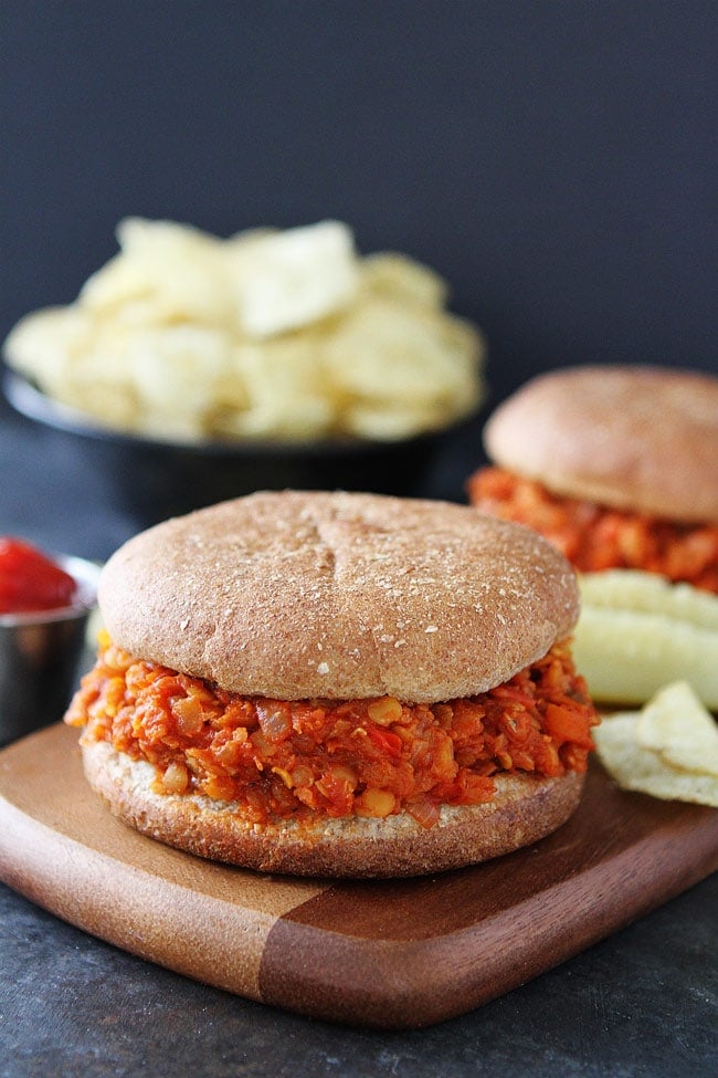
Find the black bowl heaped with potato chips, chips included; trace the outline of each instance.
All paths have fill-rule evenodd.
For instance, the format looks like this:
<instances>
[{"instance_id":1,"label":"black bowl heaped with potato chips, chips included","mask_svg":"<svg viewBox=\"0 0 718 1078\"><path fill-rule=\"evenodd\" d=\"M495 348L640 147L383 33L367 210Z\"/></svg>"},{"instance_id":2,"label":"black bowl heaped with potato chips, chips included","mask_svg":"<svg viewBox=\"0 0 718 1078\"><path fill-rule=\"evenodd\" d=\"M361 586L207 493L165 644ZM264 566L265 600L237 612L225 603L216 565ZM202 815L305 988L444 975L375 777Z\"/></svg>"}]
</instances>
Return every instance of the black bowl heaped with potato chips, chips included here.
<instances>
[{"instance_id":1,"label":"black bowl heaped with potato chips, chips included","mask_svg":"<svg viewBox=\"0 0 718 1078\"><path fill-rule=\"evenodd\" d=\"M80 439L141 523L257 489L413 493L483 401L481 332L339 221L220 239L118 226L76 301L8 336L10 404Z\"/></svg>"}]
</instances>

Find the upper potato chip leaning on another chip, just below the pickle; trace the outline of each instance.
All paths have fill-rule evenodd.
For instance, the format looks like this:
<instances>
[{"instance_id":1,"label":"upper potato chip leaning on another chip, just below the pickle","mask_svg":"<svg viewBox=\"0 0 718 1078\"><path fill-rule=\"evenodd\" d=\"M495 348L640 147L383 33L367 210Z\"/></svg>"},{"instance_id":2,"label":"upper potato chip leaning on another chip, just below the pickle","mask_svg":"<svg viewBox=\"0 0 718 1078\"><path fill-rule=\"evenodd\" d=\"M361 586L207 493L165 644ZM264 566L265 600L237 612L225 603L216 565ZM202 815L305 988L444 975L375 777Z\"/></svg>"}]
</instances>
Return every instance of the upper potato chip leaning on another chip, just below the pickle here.
<instances>
[{"instance_id":1,"label":"upper potato chip leaning on another chip, just below the pickle","mask_svg":"<svg viewBox=\"0 0 718 1078\"><path fill-rule=\"evenodd\" d=\"M636 739L673 767L718 777L718 725L686 681L665 685L646 704Z\"/></svg>"}]
</instances>

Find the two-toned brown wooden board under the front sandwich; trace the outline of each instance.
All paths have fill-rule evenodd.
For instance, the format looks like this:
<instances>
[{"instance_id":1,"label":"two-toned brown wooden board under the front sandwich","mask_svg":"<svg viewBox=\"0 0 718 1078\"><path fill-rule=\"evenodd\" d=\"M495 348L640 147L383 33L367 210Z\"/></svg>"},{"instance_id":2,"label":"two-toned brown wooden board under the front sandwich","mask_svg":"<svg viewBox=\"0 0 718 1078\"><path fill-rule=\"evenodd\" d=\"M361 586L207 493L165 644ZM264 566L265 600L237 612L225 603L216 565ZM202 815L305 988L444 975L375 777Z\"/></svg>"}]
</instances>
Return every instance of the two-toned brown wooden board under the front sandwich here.
<instances>
[{"instance_id":1,"label":"two-toned brown wooden board under the front sandwich","mask_svg":"<svg viewBox=\"0 0 718 1078\"><path fill-rule=\"evenodd\" d=\"M600 765L555 835L462 871L298 880L170 849L82 775L77 732L0 753L0 878L198 981L313 1017L405 1028L536 977L718 868L718 812L620 792Z\"/></svg>"}]
</instances>

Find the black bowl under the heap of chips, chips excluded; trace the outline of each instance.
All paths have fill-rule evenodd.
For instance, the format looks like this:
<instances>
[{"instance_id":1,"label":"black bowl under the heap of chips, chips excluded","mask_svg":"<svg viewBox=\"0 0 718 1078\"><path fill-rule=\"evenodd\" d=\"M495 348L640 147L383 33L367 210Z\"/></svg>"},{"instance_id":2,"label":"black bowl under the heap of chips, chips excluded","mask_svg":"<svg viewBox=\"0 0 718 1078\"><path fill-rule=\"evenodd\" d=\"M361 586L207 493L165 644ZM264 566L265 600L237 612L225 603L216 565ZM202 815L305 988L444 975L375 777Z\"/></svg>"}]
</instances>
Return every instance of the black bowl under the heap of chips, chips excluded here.
<instances>
[{"instance_id":1,"label":"black bowl under the heap of chips, chips excluded","mask_svg":"<svg viewBox=\"0 0 718 1078\"><path fill-rule=\"evenodd\" d=\"M75 457L104 472L118 507L141 527L255 490L416 496L446 435L401 441L161 441L95 426L10 369L3 371L3 389L17 411L54 438L70 439Z\"/></svg>"}]
</instances>

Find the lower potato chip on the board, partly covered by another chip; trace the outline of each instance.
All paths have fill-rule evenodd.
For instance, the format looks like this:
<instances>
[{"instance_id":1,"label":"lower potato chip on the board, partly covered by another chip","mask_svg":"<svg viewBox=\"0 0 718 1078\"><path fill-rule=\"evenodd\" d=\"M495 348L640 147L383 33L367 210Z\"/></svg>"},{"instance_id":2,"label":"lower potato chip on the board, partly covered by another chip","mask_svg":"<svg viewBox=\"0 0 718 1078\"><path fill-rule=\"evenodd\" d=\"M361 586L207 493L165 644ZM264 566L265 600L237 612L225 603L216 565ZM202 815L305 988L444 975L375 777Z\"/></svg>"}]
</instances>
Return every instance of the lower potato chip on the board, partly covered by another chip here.
<instances>
[{"instance_id":1,"label":"lower potato chip on the board, partly covered by another chip","mask_svg":"<svg viewBox=\"0 0 718 1078\"><path fill-rule=\"evenodd\" d=\"M718 778L672 767L637 741L640 713L603 719L593 731L601 763L619 786L664 800L685 800L718 808Z\"/></svg>"}]
</instances>

